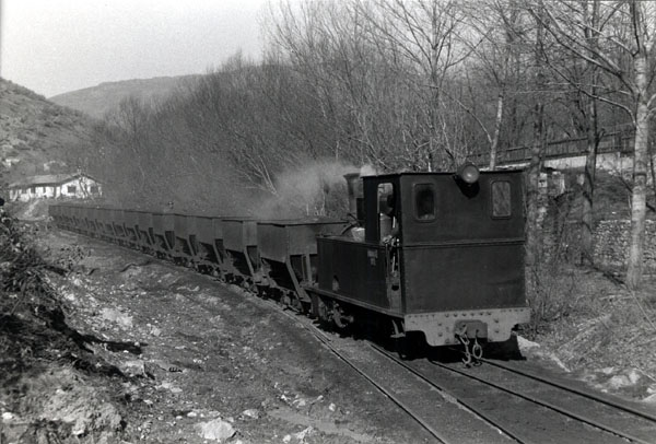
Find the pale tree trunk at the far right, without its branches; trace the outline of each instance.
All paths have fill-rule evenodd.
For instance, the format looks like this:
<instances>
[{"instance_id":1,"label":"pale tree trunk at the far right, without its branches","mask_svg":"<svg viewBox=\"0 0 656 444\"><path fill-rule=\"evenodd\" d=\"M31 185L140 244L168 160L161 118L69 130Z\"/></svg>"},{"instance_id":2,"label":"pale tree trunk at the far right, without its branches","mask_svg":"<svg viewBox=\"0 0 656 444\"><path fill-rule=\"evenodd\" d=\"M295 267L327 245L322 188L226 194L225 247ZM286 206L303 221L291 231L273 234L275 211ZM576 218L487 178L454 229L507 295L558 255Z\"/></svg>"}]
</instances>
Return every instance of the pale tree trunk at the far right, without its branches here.
<instances>
[{"instance_id":1,"label":"pale tree trunk at the far right, without its branches","mask_svg":"<svg viewBox=\"0 0 656 444\"><path fill-rule=\"evenodd\" d=\"M637 109L635 114L635 145L633 150L633 191L631 195L631 237L626 267L626 285L637 289L642 280L645 218L647 213L647 143L649 137L649 109L647 107L647 55L635 56L635 84Z\"/></svg>"}]
</instances>

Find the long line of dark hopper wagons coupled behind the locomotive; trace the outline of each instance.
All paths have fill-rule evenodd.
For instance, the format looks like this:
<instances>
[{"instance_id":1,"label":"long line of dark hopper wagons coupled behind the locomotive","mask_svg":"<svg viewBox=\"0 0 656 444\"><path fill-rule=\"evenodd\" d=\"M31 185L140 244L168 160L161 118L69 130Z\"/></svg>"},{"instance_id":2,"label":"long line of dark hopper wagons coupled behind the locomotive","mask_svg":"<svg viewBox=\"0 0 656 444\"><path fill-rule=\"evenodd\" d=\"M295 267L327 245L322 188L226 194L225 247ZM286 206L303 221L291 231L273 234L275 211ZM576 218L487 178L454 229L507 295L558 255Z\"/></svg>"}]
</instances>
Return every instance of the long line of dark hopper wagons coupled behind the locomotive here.
<instances>
[{"instance_id":1,"label":"long line of dark hopper wagons coupled behind the locomotive","mask_svg":"<svg viewBox=\"0 0 656 444\"><path fill-rule=\"evenodd\" d=\"M304 287L317 278L316 236L347 226L329 218L259 221L72 203L50 206L49 213L60 229L255 285L304 311L311 302Z\"/></svg>"}]
</instances>

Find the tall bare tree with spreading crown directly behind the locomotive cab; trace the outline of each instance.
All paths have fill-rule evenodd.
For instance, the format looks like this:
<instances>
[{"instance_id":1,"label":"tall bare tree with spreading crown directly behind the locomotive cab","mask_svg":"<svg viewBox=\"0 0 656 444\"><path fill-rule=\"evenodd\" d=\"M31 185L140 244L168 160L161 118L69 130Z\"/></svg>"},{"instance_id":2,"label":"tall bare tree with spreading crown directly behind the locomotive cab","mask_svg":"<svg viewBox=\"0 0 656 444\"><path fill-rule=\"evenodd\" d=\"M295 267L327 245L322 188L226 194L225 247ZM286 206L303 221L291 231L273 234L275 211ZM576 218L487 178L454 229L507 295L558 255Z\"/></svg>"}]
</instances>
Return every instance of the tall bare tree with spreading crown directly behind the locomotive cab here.
<instances>
[{"instance_id":1,"label":"tall bare tree with spreading crown directly behind the locomotive cab","mask_svg":"<svg viewBox=\"0 0 656 444\"><path fill-rule=\"evenodd\" d=\"M364 4L358 2L366 19L366 35L403 72L424 109L425 136L413 143L418 161L432 170L444 157L442 166L453 167L462 160L464 147L454 143L447 128L453 124L453 105L462 101L450 93L454 84L448 73L472 52L472 45L464 42L466 9L455 0L375 0L368 9Z\"/></svg>"}]
</instances>

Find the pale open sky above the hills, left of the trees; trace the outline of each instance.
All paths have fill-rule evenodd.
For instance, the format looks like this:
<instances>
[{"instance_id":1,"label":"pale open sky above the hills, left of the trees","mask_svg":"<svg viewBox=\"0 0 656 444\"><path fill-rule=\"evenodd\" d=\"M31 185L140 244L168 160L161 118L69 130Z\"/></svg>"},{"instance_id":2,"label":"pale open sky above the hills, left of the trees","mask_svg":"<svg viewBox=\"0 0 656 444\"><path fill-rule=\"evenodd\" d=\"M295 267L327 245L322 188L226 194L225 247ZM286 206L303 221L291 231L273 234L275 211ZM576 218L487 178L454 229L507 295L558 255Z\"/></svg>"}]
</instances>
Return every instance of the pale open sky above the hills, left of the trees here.
<instances>
[{"instance_id":1,"label":"pale open sky above the hills, left of the trees","mask_svg":"<svg viewBox=\"0 0 656 444\"><path fill-rule=\"evenodd\" d=\"M257 59L267 0L0 0L0 77L46 97Z\"/></svg>"}]
</instances>

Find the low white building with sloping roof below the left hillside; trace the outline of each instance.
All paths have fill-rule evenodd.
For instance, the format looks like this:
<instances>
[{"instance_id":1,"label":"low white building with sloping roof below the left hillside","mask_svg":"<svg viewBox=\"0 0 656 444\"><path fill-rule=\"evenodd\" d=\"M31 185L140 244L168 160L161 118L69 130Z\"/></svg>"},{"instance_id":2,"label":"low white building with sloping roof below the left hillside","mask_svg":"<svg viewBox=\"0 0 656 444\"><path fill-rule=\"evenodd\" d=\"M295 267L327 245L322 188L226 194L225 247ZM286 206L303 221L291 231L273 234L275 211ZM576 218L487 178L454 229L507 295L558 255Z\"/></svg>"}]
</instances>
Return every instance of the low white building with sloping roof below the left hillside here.
<instances>
[{"instance_id":1,"label":"low white building with sloping roof below the left hillside","mask_svg":"<svg viewBox=\"0 0 656 444\"><path fill-rule=\"evenodd\" d=\"M9 186L9 200L26 202L32 199L99 197L101 184L85 174L49 174L26 177Z\"/></svg>"}]
</instances>

